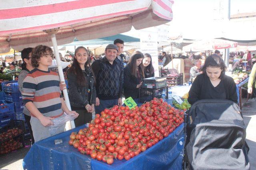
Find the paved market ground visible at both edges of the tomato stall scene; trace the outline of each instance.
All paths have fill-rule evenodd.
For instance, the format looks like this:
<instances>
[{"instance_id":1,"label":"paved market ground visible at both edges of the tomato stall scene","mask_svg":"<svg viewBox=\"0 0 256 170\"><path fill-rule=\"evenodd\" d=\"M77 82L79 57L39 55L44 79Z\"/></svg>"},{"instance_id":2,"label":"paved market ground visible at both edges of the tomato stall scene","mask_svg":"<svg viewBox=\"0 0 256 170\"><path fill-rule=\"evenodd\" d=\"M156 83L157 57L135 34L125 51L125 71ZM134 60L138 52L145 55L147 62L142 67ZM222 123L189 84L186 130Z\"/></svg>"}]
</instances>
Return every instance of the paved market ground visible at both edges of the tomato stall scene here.
<instances>
[{"instance_id":1,"label":"paved market ground visible at both edges of the tomato stall scene","mask_svg":"<svg viewBox=\"0 0 256 170\"><path fill-rule=\"evenodd\" d=\"M249 100L242 108L244 116L244 123L246 125L246 142L250 147L249 160L251 164L251 170L256 170L256 101ZM26 141L26 145L30 141ZM30 147L17 150L0 156L0 169L1 170L22 170L22 160L26 156L26 153Z\"/></svg>"}]
</instances>

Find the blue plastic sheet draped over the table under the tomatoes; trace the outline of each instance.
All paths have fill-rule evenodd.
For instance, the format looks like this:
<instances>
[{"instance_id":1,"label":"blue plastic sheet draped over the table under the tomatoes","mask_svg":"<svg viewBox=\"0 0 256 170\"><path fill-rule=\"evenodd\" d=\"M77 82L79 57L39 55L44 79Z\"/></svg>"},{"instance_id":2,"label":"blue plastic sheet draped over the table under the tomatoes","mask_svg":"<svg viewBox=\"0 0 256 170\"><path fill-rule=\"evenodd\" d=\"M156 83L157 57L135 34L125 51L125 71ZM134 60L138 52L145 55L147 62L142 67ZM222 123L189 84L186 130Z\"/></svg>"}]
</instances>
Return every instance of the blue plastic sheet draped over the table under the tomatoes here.
<instances>
[{"instance_id":1,"label":"blue plastic sheet draped over the table under the tomatoes","mask_svg":"<svg viewBox=\"0 0 256 170\"><path fill-rule=\"evenodd\" d=\"M73 131L85 126L76 127L35 143L23 160L23 168L28 170L141 170L141 169L182 169L184 124L177 127L168 137L156 143L130 160L114 160L108 165L94 160L88 155L80 154L77 149L68 145L69 136ZM63 143L55 145L55 139Z\"/></svg>"}]
</instances>

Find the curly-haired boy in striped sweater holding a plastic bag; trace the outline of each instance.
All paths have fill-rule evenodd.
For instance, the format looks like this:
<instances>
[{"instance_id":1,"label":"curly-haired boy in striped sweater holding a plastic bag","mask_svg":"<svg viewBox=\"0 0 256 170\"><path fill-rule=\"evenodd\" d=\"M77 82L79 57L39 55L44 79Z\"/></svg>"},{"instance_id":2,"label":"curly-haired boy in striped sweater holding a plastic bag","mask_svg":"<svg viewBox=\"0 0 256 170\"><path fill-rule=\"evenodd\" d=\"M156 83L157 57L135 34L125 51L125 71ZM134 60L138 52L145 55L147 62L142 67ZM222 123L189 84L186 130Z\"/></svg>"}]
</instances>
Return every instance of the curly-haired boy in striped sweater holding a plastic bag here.
<instances>
[{"instance_id":1,"label":"curly-haired boy in striped sweater holding a plastic bag","mask_svg":"<svg viewBox=\"0 0 256 170\"><path fill-rule=\"evenodd\" d=\"M60 97L58 74L48 69L52 65L52 56L50 47L38 45L32 49L31 64L34 69L23 81L22 98L30 111L35 142L52 136L47 127L53 125L52 119L64 116L63 111L78 117L78 113L70 111ZM64 127L62 125L53 135L63 132Z\"/></svg>"}]
</instances>

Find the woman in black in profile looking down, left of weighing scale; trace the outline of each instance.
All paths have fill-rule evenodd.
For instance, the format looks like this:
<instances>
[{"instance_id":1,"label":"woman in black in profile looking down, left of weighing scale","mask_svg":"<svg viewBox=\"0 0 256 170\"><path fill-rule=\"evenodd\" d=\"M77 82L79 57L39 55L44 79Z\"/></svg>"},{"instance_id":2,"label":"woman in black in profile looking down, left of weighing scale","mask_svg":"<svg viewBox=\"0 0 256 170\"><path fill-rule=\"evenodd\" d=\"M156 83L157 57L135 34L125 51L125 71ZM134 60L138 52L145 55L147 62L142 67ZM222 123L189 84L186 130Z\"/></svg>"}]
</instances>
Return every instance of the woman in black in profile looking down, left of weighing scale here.
<instances>
[{"instance_id":1,"label":"woman in black in profile looking down, left of weighing scale","mask_svg":"<svg viewBox=\"0 0 256 170\"><path fill-rule=\"evenodd\" d=\"M144 78L142 53L134 54L124 68L124 97L138 98L139 88Z\"/></svg>"}]
</instances>

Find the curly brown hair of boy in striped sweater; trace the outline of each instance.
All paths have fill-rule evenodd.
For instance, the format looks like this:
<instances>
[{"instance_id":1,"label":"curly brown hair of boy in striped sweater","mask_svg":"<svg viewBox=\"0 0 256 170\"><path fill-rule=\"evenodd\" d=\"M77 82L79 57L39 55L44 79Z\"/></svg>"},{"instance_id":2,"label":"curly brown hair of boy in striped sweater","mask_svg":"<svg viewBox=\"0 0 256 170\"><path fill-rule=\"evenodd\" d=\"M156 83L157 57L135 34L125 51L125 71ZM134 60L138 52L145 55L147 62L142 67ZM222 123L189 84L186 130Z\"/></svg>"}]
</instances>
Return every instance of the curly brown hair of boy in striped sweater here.
<instances>
[{"instance_id":1,"label":"curly brown hair of boy in striped sweater","mask_svg":"<svg viewBox=\"0 0 256 170\"><path fill-rule=\"evenodd\" d=\"M53 56L52 49L46 45L38 45L32 49L31 64L34 67L39 66L40 57L46 55L46 53Z\"/></svg>"}]
</instances>

